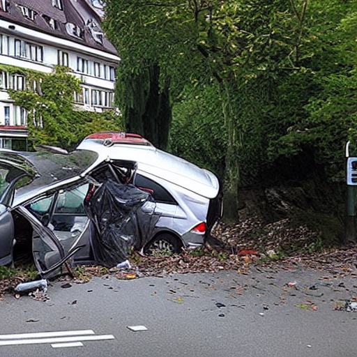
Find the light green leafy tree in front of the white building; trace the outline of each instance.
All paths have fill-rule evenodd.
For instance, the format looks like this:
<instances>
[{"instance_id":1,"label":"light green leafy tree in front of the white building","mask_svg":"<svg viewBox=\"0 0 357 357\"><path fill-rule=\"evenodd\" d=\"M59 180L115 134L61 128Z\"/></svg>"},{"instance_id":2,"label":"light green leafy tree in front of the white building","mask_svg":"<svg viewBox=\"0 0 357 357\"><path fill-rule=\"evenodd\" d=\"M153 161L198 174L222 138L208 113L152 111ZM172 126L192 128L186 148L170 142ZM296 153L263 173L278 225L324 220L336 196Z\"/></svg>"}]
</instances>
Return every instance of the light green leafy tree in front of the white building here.
<instances>
[{"instance_id":1,"label":"light green leafy tree in front of the white building","mask_svg":"<svg viewBox=\"0 0 357 357\"><path fill-rule=\"evenodd\" d=\"M15 105L28 112L27 128L34 146L48 144L71 150L92 132L123 128L120 116L114 111L96 113L74 108L73 93L82 89L79 79L70 75L68 68L56 66L50 74L31 71L24 75L29 82L26 91L9 91L9 94ZM30 88L33 83L35 90Z\"/></svg>"}]
</instances>

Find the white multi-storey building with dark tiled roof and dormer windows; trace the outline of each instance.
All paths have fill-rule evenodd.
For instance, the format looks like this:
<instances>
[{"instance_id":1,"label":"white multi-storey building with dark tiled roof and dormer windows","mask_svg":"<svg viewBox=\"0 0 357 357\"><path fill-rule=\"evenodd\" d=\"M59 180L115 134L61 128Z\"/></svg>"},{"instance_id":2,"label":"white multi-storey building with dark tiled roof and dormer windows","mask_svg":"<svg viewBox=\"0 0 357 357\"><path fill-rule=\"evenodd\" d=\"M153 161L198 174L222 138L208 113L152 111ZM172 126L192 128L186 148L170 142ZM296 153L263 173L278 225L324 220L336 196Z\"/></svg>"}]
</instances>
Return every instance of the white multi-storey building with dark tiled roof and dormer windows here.
<instances>
[{"instance_id":1,"label":"white multi-storey building with dark tiled roof and dormer windows","mask_svg":"<svg viewBox=\"0 0 357 357\"><path fill-rule=\"evenodd\" d=\"M6 65L51 73L68 66L81 80L79 109L113 107L119 56L100 28L102 0L0 0L0 147L26 149L26 111L7 89L22 90L24 75Z\"/></svg>"}]
</instances>

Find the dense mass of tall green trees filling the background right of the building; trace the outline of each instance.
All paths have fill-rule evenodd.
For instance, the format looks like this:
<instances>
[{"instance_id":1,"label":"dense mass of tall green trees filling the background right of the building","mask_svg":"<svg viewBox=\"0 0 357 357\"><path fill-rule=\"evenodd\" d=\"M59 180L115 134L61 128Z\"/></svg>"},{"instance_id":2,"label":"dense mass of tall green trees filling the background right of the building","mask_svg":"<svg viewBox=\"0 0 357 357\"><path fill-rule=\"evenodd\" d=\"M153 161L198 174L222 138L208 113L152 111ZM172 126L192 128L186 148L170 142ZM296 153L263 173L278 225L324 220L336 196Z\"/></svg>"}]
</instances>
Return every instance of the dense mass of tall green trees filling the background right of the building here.
<instances>
[{"instance_id":1,"label":"dense mass of tall green trees filling the background right of the building","mask_svg":"<svg viewBox=\"0 0 357 357\"><path fill-rule=\"evenodd\" d=\"M235 217L241 188L312 181L335 185L324 209L340 219L344 145L357 134L356 1L106 3L119 81L147 63L160 68L158 93L173 108L169 149L220 176ZM130 101L125 88L117 98L130 105L135 89Z\"/></svg>"}]
</instances>

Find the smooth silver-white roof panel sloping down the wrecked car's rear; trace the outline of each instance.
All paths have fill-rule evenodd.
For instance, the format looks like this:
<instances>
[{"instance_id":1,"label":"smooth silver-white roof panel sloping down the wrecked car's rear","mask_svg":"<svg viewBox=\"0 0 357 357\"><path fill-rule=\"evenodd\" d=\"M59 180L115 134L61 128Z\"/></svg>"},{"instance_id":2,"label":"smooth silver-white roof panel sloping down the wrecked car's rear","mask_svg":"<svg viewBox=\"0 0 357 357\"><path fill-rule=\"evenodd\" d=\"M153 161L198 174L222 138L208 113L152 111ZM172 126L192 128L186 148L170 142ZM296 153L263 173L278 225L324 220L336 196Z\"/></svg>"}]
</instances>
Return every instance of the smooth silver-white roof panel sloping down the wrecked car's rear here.
<instances>
[{"instance_id":1,"label":"smooth silver-white roof panel sloping down the wrecked car's rear","mask_svg":"<svg viewBox=\"0 0 357 357\"><path fill-rule=\"evenodd\" d=\"M133 138L136 139L136 138ZM207 198L218 195L219 183L214 174L175 155L147 144L116 142L105 145L105 139L86 138L77 150L96 151L98 161L90 171L105 160L130 160L137 162L137 172L147 173L179 185ZM86 173L84 173L86 174Z\"/></svg>"}]
</instances>

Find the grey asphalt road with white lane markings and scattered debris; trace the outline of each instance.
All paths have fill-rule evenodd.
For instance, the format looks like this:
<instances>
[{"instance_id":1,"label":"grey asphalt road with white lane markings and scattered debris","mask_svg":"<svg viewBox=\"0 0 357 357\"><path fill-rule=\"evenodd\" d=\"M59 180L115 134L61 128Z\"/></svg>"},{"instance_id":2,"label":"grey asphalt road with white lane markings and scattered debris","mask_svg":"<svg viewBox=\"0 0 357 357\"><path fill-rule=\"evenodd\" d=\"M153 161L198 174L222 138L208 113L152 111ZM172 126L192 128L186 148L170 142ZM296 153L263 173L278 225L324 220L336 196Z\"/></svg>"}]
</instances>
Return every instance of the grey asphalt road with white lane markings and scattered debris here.
<instances>
[{"instance_id":1,"label":"grey asphalt road with white lane markings and scattered debris","mask_svg":"<svg viewBox=\"0 0 357 357\"><path fill-rule=\"evenodd\" d=\"M357 312L334 310L357 296L354 273L265 269L63 284L51 282L48 301L0 301L1 357L357 355ZM65 336L22 335L45 332ZM66 347L67 337L75 345Z\"/></svg>"}]
</instances>

